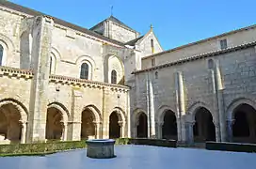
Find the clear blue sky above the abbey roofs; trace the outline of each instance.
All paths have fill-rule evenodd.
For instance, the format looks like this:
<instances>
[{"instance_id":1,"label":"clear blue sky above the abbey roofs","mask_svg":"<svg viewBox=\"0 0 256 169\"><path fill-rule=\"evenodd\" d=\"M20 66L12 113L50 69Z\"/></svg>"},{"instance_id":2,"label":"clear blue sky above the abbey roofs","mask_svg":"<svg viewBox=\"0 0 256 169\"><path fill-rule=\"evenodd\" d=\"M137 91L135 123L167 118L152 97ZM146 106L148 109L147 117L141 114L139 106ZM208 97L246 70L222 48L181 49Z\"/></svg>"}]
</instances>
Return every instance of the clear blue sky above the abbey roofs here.
<instances>
[{"instance_id":1,"label":"clear blue sky above the abbey roofs","mask_svg":"<svg viewBox=\"0 0 256 169\"><path fill-rule=\"evenodd\" d=\"M141 34L150 29L165 50L254 24L255 0L11 0L90 28L113 14Z\"/></svg>"}]
</instances>

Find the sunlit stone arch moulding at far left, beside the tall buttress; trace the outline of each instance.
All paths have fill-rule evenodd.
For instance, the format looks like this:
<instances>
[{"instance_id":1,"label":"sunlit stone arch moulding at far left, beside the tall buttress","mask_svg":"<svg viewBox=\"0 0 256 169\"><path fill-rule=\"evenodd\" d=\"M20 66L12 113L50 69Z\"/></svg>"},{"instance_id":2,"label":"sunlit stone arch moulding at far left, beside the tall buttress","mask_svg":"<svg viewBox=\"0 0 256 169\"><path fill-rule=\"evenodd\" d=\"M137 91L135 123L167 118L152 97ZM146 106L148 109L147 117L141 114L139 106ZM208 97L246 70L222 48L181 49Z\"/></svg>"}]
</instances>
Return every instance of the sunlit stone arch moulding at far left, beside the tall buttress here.
<instances>
[{"instance_id":1,"label":"sunlit stone arch moulding at far left, beside the tall buttress","mask_svg":"<svg viewBox=\"0 0 256 169\"><path fill-rule=\"evenodd\" d=\"M0 107L11 104L13 105L21 114L21 121L23 123L27 122L27 109L25 106L18 100L12 100L12 99L5 99L5 100L0 100Z\"/></svg>"}]
</instances>

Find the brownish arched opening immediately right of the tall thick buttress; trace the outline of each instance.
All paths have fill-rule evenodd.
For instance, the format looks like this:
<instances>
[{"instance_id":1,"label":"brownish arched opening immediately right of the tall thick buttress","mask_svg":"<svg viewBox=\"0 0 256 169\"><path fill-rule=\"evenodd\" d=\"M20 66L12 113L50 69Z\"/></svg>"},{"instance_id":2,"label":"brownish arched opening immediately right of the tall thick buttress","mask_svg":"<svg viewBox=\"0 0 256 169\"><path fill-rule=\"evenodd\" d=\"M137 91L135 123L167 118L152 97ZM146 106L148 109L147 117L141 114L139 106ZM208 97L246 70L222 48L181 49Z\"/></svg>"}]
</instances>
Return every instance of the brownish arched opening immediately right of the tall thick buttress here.
<instances>
[{"instance_id":1,"label":"brownish arched opening immediately right of the tall thick buttress","mask_svg":"<svg viewBox=\"0 0 256 169\"><path fill-rule=\"evenodd\" d=\"M46 118L46 139L62 140L63 129L64 124L61 112L53 107L48 108Z\"/></svg>"}]
</instances>

